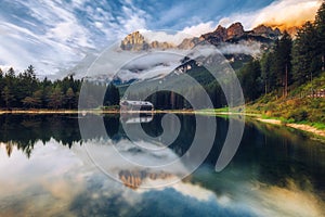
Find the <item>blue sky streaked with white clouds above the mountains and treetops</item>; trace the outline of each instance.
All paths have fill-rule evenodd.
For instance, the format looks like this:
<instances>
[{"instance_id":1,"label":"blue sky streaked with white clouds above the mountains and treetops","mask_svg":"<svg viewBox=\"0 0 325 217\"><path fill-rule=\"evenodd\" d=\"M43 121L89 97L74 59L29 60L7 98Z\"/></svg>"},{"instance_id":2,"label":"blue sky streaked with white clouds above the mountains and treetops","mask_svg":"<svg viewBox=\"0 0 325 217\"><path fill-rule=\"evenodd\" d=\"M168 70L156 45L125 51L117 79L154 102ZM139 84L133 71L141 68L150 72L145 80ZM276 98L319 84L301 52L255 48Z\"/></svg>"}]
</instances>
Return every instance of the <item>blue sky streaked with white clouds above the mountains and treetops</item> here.
<instances>
[{"instance_id":1,"label":"blue sky streaked with white clouds above the mountains and treetops","mask_svg":"<svg viewBox=\"0 0 325 217\"><path fill-rule=\"evenodd\" d=\"M172 29L192 35L221 23L246 28L280 13L277 8L316 9L321 0L2 0L0 67L34 64L55 75L136 29ZM295 11L299 15L299 11ZM302 13L302 12L301 12ZM266 14L266 15L265 15ZM270 15L271 14L271 15ZM266 17L265 17L266 16Z\"/></svg>"}]
</instances>

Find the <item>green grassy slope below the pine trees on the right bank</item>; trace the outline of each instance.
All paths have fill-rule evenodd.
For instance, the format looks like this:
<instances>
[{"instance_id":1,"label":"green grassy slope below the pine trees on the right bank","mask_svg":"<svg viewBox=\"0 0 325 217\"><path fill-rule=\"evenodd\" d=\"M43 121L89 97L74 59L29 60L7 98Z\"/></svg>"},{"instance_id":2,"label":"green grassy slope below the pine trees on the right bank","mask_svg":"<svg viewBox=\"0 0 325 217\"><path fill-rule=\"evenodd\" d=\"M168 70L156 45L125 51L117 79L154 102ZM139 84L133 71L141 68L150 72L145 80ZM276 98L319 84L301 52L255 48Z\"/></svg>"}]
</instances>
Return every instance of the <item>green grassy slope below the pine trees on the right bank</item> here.
<instances>
[{"instance_id":1,"label":"green grassy slope below the pine trees on the right bank","mask_svg":"<svg viewBox=\"0 0 325 217\"><path fill-rule=\"evenodd\" d=\"M314 89L325 89L325 73L313 80ZM256 102L247 104L246 110L261 114L265 119L280 119L284 124L307 124L325 129L325 98L310 98L311 84L291 87L287 98L271 92Z\"/></svg>"}]
</instances>

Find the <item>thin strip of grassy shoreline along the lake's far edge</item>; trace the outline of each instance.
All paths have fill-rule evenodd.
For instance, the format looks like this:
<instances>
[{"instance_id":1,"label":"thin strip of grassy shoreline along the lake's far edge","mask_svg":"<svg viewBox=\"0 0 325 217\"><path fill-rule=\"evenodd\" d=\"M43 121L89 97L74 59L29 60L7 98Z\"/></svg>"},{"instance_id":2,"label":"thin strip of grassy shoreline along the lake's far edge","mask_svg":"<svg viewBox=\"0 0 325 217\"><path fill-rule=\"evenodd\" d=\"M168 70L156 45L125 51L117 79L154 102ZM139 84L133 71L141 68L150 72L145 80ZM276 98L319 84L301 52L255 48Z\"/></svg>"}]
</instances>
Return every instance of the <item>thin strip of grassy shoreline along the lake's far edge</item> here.
<instances>
[{"instance_id":1,"label":"thin strip of grassy shoreline along the lake's far edge","mask_svg":"<svg viewBox=\"0 0 325 217\"><path fill-rule=\"evenodd\" d=\"M12 110L12 111L0 111L0 115L2 114L119 114L119 110ZM139 112L128 112L128 114L136 114ZM147 113L147 112L144 112ZM153 111L153 114L198 114L198 115L214 115L214 116L232 116L232 115L243 115L251 117L258 122L262 122L265 124L272 125L282 125L290 128L295 128L298 130L302 130L306 132L311 132L313 135L325 138L325 129L323 125L317 127L316 123L289 123L283 118L278 117L269 117L262 114L249 112L249 113L239 113L239 112L230 112L227 108L217 108L217 110L202 110L202 111L193 111L193 110L172 110L172 111Z\"/></svg>"}]
</instances>

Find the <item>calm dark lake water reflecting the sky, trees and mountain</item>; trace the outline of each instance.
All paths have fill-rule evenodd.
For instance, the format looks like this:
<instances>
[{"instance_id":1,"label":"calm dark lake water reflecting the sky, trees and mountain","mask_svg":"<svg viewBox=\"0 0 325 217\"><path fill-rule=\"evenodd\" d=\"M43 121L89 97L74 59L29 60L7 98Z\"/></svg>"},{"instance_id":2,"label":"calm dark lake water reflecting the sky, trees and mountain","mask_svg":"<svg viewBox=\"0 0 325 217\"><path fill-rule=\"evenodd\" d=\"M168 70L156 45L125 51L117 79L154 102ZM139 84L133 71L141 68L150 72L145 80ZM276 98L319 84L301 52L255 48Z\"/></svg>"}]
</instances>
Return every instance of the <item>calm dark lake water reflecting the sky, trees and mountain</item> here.
<instances>
[{"instance_id":1,"label":"calm dark lake water reflecting the sky, trees and mountain","mask_svg":"<svg viewBox=\"0 0 325 217\"><path fill-rule=\"evenodd\" d=\"M195 173L142 188L173 174L129 168L114 150L152 164L182 156L194 116L179 115L179 137L161 155L131 146L121 125L142 122L147 135L158 136L161 115L102 116L107 137L94 130L82 139L80 118L87 116L0 115L0 216L325 216L325 143L297 130L247 123L234 158L217 173L229 126L218 117L213 148ZM94 161L94 154L106 158Z\"/></svg>"}]
</instances>

